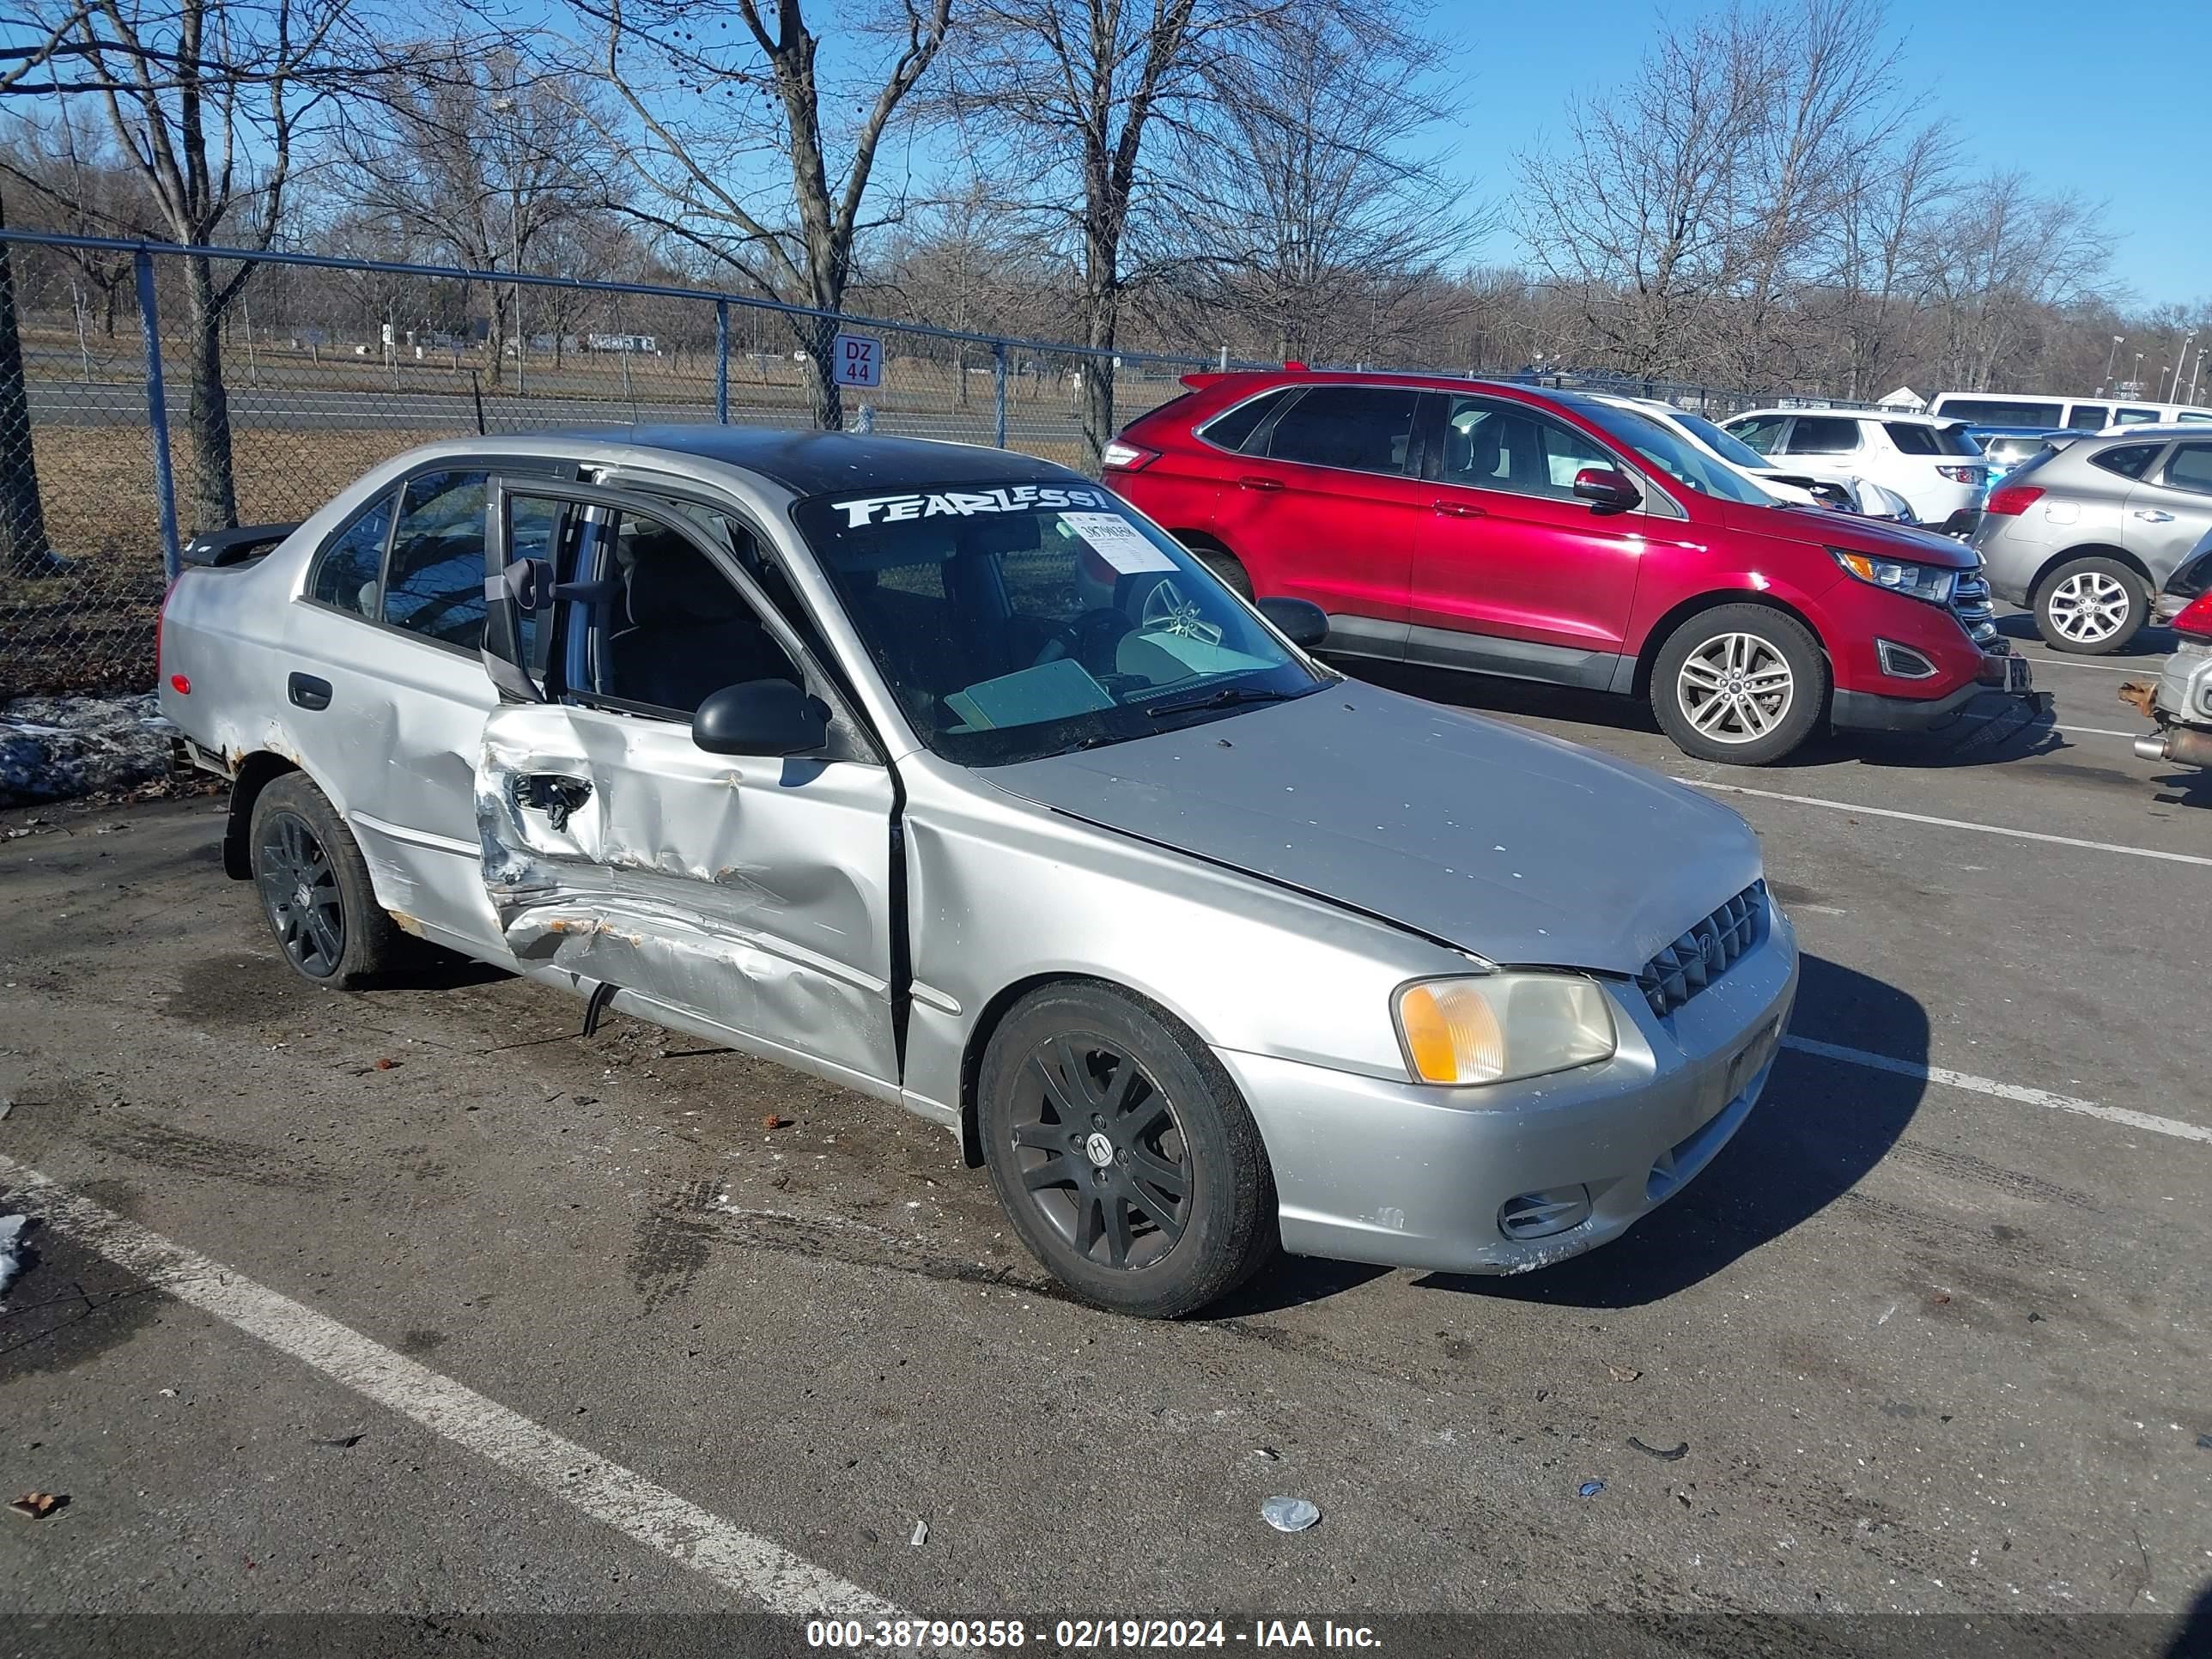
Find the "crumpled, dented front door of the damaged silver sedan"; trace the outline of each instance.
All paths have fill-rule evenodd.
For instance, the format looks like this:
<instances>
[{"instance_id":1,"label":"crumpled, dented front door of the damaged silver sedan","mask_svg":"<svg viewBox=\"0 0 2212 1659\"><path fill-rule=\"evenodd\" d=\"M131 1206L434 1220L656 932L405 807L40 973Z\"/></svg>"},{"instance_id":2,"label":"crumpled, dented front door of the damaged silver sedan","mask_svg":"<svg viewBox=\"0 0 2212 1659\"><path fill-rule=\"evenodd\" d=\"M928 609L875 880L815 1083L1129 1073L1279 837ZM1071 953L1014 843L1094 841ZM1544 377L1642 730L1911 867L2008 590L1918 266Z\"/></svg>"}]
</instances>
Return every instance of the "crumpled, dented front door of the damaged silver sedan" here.
<instances>
[{"instance_id":1,"label":"crumpled, dented front door of the damaged silver sedan","mask_svg":"<svg viewBox=\"0 0 2212 1659\"><path fill-rule=\"evenodd\" d=\"M476 827L507 947L617 1006L896 1097L894 781L750 577L772 564L765 533L719 502L524 478L493 480L491 511L480 582L504 613L484 633L502 701ZM546 515L577 526L580 580L557 588L526 562ZM546 624L549 650L520 644ZM692 743L699 701L752 679L830 703L827 745Z\"/></svg>"}]
</instances>

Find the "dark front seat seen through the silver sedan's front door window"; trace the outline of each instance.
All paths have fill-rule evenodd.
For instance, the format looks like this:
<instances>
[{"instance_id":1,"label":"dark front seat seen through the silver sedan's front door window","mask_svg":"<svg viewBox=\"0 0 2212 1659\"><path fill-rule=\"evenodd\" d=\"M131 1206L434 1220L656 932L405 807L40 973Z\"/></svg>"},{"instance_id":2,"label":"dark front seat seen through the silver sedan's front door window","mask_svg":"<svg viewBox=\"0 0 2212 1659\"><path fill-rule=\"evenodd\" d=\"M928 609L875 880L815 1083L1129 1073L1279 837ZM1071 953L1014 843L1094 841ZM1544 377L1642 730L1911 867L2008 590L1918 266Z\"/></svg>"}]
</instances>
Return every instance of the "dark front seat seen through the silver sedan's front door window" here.
<instances>
[{"instance_id":1,"label":"dark front seat seen through the silver sedan's front door window","mask_svg":"<svg viewBox=\"0 0 2212 1659\"><path fill-rule=\"evenodd\" d=\"M606 641L608 697L697 712L748 679L796 679L790 657L743 595L672 531L639 535L626 588L628 624Z\"/></svg>"}]
</instances>

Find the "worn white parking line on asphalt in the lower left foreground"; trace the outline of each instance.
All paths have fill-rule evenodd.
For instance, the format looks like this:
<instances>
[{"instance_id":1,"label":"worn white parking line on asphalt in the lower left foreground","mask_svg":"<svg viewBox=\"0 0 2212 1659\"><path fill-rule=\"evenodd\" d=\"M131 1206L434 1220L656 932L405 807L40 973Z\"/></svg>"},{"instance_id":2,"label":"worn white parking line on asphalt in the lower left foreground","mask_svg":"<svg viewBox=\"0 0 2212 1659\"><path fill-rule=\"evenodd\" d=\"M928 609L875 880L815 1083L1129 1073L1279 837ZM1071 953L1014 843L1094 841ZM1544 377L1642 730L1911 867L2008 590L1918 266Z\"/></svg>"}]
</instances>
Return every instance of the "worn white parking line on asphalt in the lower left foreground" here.
<instances>
[{"instance_id":1,"label":"worn white parking line on asphalt in the lower left foreground","mask_svg":"<svg viewBox=\"0 0 2212 1659\"><path fill-rule=\"evenodd\" d=\"M677 1498L637 1471L542 1429L498 1400L77 1197L27 1164L0 1155L0 1175L20 1181L9 1194L13 1208L40 1217L117 1267L290 1354L376 1405L420 1422L456 1447L487 1458L770 1613L792 1619L854 1617L869 1624L911 1617L765 1537Z\"/></svg>"}]
</instances>

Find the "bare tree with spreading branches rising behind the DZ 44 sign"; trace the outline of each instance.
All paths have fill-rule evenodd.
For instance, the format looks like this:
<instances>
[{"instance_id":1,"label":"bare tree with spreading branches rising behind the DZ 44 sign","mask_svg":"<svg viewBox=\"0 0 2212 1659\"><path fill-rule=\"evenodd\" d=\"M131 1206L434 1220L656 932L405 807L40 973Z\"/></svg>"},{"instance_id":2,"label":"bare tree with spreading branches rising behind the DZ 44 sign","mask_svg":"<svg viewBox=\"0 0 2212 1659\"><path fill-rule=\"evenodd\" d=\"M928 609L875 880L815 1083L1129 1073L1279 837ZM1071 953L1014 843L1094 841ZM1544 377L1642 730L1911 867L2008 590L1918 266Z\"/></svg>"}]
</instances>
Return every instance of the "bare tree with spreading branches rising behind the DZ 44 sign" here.
<instances>
[{"instance_id":1,"label":"bare tree with spreading branches rising behind the DZ 44 sign","mask_svg":"<svg viewBox=\"0 0 2212 1659\"><path fill-rule=\"evenodd\" d=\"M619 164L641 197L624 210L661 234L712 254L750 288L836 312L854 274L876 157L900 106L929 73L951 27L951 0L880 0L856 40L883 53L854 86L825 86L821 38L803 0L571 0L599 35L597 73L626 111L608 126ZM723 11L743 22L737 44L710 24ZM838 111L860 115L841 126ZM825 115L827 113L827 115ZM843 166L832 166L832 150ZM745 179L763 157L781 157L790 192L759 192ZM832 374L834 321L794 319L807 356L814 425L845 425Z\"/></svg>"}]
</instances>

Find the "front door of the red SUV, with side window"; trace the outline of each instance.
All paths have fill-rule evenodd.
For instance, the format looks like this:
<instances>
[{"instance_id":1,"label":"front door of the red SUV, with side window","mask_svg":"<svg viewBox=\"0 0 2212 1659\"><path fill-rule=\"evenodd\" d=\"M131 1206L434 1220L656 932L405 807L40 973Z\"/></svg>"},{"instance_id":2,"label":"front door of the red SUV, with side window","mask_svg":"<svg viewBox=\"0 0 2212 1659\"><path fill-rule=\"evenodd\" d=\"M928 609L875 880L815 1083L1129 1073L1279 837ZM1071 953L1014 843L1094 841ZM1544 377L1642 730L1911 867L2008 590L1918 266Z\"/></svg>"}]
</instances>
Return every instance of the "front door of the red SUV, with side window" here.
<instances>
[{"instance_id":1,"label":"front door of the red SUV, with side window","mask_svg":"<svg viewBox=\"0 0 2212 1659\"><path fill-rule=\"evenodd\" d=\"M1436 482L1413 549L1407 655L1606 686L1628 633L1646 515L1575 495L1624 467L1595 438L1504 398L1433 394Z\"/></svg>"}]
</instances>

